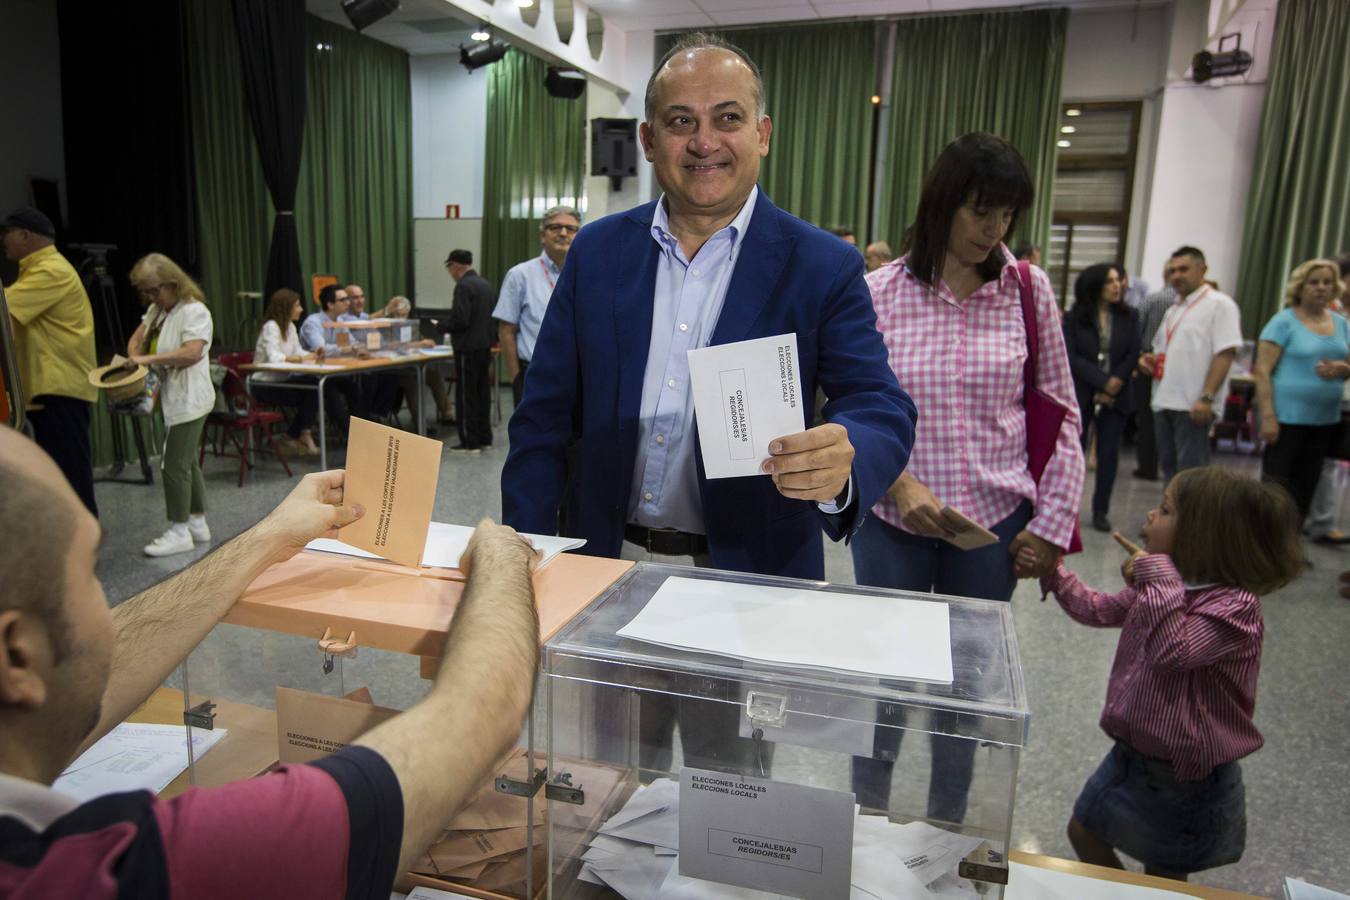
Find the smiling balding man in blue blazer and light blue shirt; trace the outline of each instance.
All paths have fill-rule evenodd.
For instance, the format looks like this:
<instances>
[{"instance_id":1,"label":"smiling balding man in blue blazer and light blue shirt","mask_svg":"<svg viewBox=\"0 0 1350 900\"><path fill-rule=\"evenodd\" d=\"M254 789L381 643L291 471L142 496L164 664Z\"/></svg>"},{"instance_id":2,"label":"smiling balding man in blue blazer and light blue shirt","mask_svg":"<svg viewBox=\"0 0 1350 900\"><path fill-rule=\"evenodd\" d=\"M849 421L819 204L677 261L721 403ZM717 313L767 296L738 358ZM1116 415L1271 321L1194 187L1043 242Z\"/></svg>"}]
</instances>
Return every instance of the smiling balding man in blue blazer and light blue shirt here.
<instances>
[{"instance_id":1,"label":"smiling balding man in blue blazer and light blue shirt","mask_svg":"<svg viewBox=\"0 0 1350 900\"><path fill-rule=\"evenodd\" d=\"M586 551L693 556L824 578L905 468L915 410L876 331L863 258L756 186L772 123L742 51L686 36L647 89L643 150L664 197L576 235L510 421L504 519ZM825 422L774 441L770 475L707 480L686 351L794 332ZM571 460L571 464L568 464ZM636 549L636 548L634 548Z\"/></svg>"}]
</instances>

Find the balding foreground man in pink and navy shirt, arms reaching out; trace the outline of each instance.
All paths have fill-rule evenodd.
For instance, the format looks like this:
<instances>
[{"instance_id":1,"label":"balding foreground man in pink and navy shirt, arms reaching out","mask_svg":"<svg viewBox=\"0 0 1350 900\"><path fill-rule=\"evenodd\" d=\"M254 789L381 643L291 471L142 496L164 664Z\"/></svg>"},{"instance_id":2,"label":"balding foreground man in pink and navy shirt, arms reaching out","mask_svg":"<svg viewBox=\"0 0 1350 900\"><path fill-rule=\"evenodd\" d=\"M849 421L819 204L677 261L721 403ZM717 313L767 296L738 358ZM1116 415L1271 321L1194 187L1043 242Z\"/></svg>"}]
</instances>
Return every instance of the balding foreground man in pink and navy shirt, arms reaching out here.
<instances>
[{"instance_id":1,"label":"balding foreground man in pink and navy shirt, arms reaching out","mask_svg":"<svg viewBox=\"0 0 1350 900\"><path fill-rule=\"evenodd\" d=\"M539 660L531 568L483 522L431 692L306 765L173 800L50 785L132 712L263 569L362 514L306 475L262 522L109 610L99 522L0 426L0 897L386 900L520 733ZM452 748L452 749L451 749Z\"/></svg>"}]
</instances>

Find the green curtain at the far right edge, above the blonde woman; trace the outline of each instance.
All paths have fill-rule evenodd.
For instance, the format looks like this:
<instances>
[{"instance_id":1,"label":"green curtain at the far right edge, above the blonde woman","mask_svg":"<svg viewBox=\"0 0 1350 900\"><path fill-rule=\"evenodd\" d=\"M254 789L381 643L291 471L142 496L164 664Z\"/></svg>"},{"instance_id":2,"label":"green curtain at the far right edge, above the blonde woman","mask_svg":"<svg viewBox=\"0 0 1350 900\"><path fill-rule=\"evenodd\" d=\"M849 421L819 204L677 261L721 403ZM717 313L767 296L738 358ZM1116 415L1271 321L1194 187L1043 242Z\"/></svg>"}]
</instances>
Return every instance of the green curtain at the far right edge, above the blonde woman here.
<instances>
[{"instance_id":1,"label":"green curtain at the far right edge, above the blonde woman","mask_svg":"<svg viewBox=\"0 0 1350 900\"><path fill-rule=\"evenodd\" d=\"M1350 0L1282 0L1251 170L1237 301L1242 331L1284 305L1299 263L1350 251Z\"/></svg>"}]
</instances>

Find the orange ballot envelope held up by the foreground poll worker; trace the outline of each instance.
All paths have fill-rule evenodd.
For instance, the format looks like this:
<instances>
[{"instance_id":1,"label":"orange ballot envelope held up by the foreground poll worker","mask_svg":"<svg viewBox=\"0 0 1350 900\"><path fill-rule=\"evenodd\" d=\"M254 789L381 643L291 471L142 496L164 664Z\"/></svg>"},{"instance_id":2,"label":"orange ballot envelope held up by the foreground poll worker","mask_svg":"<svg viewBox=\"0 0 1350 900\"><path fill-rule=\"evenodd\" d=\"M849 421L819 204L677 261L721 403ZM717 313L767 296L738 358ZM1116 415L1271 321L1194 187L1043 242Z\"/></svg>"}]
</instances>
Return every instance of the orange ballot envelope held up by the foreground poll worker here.
<instances>
[{"instance_id":1,"label":"orange ballot envelope held up by the foreground poll worker","mask_svg":"<svg viewBox=\"0 0 1350 900\"><path fill-rule=\"evenodd\" d=\"M440 478L440 441L363 418L347 437L348 505L366 514L338 532L339 540L402 565L417 567Z\"/></svg>"}]
</instances>

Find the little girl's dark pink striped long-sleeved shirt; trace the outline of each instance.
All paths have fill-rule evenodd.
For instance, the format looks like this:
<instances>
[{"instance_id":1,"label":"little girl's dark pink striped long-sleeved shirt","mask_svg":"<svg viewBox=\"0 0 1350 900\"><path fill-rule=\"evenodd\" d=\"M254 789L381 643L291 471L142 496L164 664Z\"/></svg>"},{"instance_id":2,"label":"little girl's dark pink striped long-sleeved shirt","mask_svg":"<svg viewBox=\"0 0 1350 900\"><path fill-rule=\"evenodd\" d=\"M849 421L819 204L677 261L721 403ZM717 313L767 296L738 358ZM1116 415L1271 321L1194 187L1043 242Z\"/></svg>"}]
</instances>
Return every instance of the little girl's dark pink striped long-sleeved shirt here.
<instances>
[{"instance_id":1,"label":"little girl's dark pink striped long-sleeved shirt","mask_svg":"<svg viewBox=\"0 0 1350 900\"><path fill-rule=\"evenodd\" d=\"M1188 588L1162 553L1134 561L1134 583L1094 591L1062 564L1041 580L1075 621L1120 626L1102 730L1183 781L1260 749L1261 600L1231 584Z\"/></svg>"}]
</instances>

